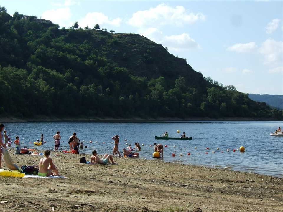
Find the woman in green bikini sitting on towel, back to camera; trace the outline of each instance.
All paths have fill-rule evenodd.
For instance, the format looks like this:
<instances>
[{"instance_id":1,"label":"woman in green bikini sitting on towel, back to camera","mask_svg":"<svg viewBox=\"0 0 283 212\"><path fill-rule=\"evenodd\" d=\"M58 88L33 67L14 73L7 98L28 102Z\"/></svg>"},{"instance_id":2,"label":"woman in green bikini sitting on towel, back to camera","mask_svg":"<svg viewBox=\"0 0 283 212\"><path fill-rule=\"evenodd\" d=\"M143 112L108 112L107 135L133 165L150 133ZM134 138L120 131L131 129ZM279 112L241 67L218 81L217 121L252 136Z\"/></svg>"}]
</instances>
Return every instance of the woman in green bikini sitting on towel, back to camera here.
<instances>
[{"instance_id":1,"label":"woman in green bikini sitting on towel, back to camera","mask_svg":"<svg viewBox=\"0 0 283 212\"><path fill-rule=\"evenodd\" d=\"M38 176L41 177L48 177L50 175L52 176L60 176L58 170L56 169L55 165L53 164L53 161L51 158L49 158L50 151L45 150L44 152L44 158L41 158L39 161L39 169L38 169ZM54 173L52 173L52 171Z\"/></svg>"}]
</instances>

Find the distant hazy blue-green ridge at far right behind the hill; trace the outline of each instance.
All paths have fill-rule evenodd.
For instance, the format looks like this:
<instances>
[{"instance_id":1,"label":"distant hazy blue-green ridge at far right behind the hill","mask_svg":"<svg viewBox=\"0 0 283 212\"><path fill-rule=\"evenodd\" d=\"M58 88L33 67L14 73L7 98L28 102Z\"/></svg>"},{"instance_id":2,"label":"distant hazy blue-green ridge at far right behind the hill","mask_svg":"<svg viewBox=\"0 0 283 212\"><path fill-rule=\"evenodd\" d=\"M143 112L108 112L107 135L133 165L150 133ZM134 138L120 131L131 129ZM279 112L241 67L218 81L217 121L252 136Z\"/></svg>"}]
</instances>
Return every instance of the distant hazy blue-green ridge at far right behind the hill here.
<instances>
[{"instance_id":1,"label":"distant hazy blue-green ridge at far right behind the hill","mask_svg":"<svg viewBox=\"0 0 283 212\"><path fill-rule=\"evenodd\" d=\"M249 98L257 102L265 102L278 110L283 110L283 95L249 94Z\"/></svg>"}]
</instances>

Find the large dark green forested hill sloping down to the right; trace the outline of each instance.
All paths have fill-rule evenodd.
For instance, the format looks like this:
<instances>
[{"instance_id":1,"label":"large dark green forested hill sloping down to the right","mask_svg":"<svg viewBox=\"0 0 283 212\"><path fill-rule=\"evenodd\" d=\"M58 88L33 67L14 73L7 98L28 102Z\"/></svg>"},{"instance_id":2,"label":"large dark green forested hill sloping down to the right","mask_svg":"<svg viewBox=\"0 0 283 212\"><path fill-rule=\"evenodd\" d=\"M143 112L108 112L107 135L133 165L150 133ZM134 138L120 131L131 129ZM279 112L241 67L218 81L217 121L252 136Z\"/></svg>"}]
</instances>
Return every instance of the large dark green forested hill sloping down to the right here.
<instances>
[{"instance_id":1,"label":"large dark green forested hill sloping down to the right","mask_svg":"<svg viewBox=\"0 0 283 212\"><path fill-rule=\"evenodd\" d=\"M0 11L2 115L282 118L138 34L59 29Z\"/></svg>"}]
</instances>

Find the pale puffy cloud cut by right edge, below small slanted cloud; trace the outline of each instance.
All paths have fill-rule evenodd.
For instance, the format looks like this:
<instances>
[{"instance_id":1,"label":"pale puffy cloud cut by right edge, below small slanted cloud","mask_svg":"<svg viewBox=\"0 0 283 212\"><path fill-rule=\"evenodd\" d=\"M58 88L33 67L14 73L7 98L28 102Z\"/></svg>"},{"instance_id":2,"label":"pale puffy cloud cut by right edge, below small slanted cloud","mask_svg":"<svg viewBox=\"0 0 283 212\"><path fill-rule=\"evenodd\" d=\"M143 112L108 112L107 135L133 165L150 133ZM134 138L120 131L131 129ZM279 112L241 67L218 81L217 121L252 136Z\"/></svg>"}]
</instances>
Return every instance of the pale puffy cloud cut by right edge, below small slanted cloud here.
<instances>
[{"instance_id":1,"label":"pale puffy cloud cut by right edge, below small slanted cloud","mask_svg":"<svg viewBox=\"0 0 283 212\"><path fill-rule=\"evenodd\" d=\"M271 38L268 38L261 44L259 49L259 53L264 55L264 64L272 64L272 63L282 63L282 49L283 43L282 41L275 41Z\"/></svg>"}]
</instances>

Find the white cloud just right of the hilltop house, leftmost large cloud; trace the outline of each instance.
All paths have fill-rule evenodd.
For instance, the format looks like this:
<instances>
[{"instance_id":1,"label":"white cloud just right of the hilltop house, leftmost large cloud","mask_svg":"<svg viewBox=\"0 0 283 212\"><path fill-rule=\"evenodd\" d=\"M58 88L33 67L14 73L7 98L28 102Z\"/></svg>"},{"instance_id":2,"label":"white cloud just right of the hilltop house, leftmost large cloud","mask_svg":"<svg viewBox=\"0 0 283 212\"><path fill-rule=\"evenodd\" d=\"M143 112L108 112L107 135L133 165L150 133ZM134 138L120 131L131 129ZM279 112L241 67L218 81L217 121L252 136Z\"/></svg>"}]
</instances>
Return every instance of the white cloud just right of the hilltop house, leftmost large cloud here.
<instances>
[{"instance_id":1,"label":"white cloud just right of the hilltop house, leftmost large cloud","mask_svg":"<svg viewBox=\"0 0 283 212\"><path fill-rule=\"evenodd\" d=\"M50 20L54 24L59 24L59 26L62 28L70 27L71 25L73 25L73 23L69 21L71 16L72 14L70 8L67 7L47 10L43 12L41 18Z\"/></svg>"}]
</instances>

